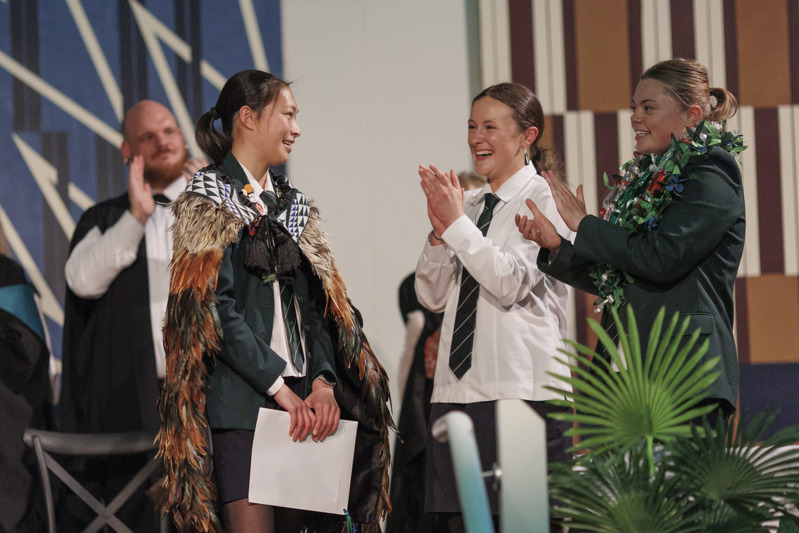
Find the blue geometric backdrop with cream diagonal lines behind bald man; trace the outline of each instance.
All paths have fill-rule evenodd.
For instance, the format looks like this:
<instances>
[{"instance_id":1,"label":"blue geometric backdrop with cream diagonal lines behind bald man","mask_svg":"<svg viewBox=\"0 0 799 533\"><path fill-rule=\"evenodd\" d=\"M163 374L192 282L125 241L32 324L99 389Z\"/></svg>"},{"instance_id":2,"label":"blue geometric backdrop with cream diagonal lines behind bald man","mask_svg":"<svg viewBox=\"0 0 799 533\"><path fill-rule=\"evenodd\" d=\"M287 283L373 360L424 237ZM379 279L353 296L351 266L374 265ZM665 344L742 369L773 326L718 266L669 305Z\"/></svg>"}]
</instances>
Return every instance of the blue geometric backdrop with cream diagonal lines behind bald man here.
<instances>
[{"instance_id":1,"label":"blue geometric backdrop with cream diagonal lines behind bald man","mask_svg":"<svg viewBox=\"0 0 799 533\"><path fill-rule=\"evenodd\" d=\"M282 56L280 0L0 0L0 224L57 357L75 222L127 189L124 111L163 103L201 155L194 122L225 80L281 76Z\"/></svg>"}]
</instances>

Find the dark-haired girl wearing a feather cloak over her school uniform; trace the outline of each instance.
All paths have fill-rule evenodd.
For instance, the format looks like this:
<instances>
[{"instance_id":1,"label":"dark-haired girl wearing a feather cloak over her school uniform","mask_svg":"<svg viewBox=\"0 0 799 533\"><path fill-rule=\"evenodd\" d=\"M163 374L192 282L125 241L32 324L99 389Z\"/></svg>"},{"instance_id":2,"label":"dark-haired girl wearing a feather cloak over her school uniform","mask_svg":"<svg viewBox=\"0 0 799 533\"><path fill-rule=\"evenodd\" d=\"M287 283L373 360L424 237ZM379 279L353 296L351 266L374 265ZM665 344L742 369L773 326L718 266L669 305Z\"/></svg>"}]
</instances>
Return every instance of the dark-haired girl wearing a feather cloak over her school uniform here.
<instances>
[{"instance_id":1,"label":"dark-haired girl wearing a feather cloak over her school uniform","mask_svg":"<svg viewBox=\"0 0 799 533\"><path fill-rule=\"evenodd\" d=\"M153 494L181 531L347 527L340 516L249 503L261 407L287 411L295 441L324 440L340 417L357 420L347 522L377 532L390 510L388 379L317 210L269 170L288 160L300 136L296 117L286 82L257 70L234 75L197 123L197 142L214 164L173 204L159 401L165 476Z\"/></svg>"}]
</instances>

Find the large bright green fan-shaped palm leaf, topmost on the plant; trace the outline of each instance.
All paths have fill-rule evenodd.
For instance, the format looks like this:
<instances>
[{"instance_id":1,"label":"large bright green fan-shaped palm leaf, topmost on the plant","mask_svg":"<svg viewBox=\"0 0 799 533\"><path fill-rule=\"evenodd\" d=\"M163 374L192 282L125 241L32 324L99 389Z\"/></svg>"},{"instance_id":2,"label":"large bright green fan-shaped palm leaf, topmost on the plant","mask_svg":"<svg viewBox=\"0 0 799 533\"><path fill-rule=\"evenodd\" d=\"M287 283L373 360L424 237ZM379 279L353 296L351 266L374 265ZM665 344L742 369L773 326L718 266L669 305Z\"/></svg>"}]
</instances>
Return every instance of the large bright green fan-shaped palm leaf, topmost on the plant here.
<instances>
[{"instance_id":1,"label":"large bright green fan-shaped palm leaf, topmost on the plant","mask_svg":"<svg viewBox=\"0 0 799 533\"><path fill-rule=\"evenodd\" d=\"M598 453L618 446L631 449L642 439L651 448L654 442L690 435L689 421L714 408L696 407L707 397L705 391L718 377L713 370L718 359L704 361L707 341L694 350L699 337L697 330L682 342L686 339L689 319L680 324L677 314L664 331L665 311L661 309L644 353L632 309L628 306L627 331L616 311L612 313L622 352L607 332L590 320L591 329L610 362L578 343L569 342L574 351L566 353L573 361L561 361L574 377L557 377L570 384L573 391L553 390L571 400L559 403L573 405L575 412L562 413L557 418L577 422L579 426L569 434L581 437L581 448Z\"/></svg>"}]
</instances>

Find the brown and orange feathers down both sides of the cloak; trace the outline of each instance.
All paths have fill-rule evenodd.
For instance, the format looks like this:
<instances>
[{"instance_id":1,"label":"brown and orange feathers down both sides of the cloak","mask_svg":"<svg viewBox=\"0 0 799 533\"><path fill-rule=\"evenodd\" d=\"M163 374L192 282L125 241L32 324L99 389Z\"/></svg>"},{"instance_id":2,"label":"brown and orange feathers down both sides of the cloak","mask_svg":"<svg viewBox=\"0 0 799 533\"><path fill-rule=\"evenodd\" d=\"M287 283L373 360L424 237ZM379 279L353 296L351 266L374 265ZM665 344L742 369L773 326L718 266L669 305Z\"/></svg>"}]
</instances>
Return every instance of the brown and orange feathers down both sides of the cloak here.
<instances>
[{"instance_id":1,"label":"brown and orange feathers down both sides of the cloak","mask_svg":"<svg viewBox=\"0 0 799 533\"><path fill-rule=\"evenodd\" d=\"M159 399L162 426L156 437L164 461L164 477L151 489L159 508L172 515L179 531L221 531L214 508L215 489L209 478L208 424L205 418L205 359L213 359L222 335L214 289L222 254L236 242L244 223L224 205L183 194L173 203L173 257L164 346L167 375ZM362 533L379 533L379 521L390 512L389 429L396 430L389 411L388 377L361 329L344 280L311 208L300 249L319 277L327 297L326 316L337 337L336 399L342 417L358 420L358 472L350 489L350 514ZM345 531L335 515L310 513L310 531Z\"/></svg>"}]
</instances>

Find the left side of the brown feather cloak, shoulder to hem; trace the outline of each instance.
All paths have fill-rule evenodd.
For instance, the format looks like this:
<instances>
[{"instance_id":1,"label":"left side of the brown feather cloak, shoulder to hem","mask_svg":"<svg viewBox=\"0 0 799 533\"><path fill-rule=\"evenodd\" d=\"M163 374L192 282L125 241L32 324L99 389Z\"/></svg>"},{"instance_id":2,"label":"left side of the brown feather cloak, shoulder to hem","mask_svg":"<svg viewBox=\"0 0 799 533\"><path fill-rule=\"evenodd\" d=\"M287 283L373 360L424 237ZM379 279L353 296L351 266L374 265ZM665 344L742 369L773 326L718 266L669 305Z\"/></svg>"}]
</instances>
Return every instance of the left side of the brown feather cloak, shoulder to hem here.
<instances>
[{"instance_id":1,"label":"left side of the brown feather cloak, shoulder to hem","mask_svg":"<svg viewBox=\"0 0 799 533\"><path fill-rule=\"evenodd\" d=\"M219 353L222 334L216 315L216 275L222 254L244 223L226 207L183 194L175 214L169 299L164 318L166 379L158 401L161 429L156 440L164 477L151 489L159 508L178 531L220 531L216 491L208 472L204 356Z\"/></svg>"}]
</instances>

